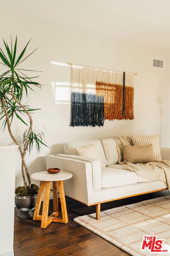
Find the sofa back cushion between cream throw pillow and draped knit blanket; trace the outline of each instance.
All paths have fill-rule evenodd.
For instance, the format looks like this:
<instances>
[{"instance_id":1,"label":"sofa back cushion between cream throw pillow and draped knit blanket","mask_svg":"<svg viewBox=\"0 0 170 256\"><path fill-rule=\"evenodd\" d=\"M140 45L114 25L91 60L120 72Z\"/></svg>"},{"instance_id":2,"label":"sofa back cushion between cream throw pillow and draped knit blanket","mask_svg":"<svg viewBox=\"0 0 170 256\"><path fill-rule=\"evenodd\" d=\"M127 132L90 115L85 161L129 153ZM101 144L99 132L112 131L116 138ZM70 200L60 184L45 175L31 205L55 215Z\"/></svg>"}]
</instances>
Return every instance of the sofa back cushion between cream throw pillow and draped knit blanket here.
<instances>
[{"instance_id":1,"label":"sofa back cushion between cream throw pillow and draped knit blanket","mask_svg":"<svg viewBox=\"0 0 170 256\"><path fill-rule=\"evenodd\" d=\"M107 159L107 165L118 164L118 151L114 139L102 139L104 152Z\"/></svg>"}]
</instances>

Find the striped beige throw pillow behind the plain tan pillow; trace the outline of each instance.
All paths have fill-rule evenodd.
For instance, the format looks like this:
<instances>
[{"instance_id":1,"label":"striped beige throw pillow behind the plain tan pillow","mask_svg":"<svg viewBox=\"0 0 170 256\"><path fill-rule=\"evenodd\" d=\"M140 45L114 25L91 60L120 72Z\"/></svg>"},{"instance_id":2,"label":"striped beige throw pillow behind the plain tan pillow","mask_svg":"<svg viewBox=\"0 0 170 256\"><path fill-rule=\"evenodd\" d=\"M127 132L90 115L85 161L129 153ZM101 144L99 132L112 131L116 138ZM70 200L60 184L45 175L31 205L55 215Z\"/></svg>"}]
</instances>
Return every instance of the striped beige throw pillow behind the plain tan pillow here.
<instances>
[{"instance_id":1,"label":"striped beige throw pillow behind the plain tan pillow","mask_svg":"<svg viewBox=\"0 0 170 256\"><path fill-rule=\"evenodd\" d=\"M132 144L134 146L146 146L153 145L153 158L154 161L162 160L162 156L160 154L160 145L159 145L159 135L134 135L131 134Z\"/></svg>"}]
</instances>

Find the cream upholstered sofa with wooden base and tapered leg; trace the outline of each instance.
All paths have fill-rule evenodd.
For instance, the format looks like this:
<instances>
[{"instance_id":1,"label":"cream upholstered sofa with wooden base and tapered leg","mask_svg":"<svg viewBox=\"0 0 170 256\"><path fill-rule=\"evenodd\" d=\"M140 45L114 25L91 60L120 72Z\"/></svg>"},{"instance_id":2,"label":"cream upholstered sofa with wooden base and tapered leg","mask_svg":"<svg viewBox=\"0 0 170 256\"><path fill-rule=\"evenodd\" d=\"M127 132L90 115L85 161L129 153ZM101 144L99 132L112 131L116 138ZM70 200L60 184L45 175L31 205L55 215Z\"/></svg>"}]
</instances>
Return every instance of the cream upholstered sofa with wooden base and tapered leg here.
<instances>
[{"instance_id":1,"label":"cream upholstered sofa with wooden base and tapered leg","mask_svg":"<svg viewBox=\"0 0 170 256\"><path fill-rule=\"evenodd\" d=\"M76 148L95 144L104 168L100 161L77 155ZM48 168L60 168L69 171L73 177L64 181L66 196L87 206L96 205L96 219L100 219L101 203L114 201L167 189L164 181L146 180L136 173L123 170L118 164L118 152L114 139L86 140L69 142L64 146L65 154L46 156ZM170 160L170 149L161 148L163 160Z\"/></svg>"}]
</instances>

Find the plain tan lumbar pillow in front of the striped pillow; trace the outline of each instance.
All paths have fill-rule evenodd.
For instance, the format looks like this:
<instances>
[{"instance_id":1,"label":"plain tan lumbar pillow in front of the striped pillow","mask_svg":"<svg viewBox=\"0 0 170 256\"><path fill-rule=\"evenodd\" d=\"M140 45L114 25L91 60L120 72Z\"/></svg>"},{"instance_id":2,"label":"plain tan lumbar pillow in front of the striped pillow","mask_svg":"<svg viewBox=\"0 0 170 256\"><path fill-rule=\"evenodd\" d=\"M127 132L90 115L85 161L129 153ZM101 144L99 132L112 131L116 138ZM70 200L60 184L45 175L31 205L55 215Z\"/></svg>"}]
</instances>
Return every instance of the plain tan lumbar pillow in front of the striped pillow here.
<instances>
[{"instance_id":1,"label":"plain tan lumbar pillow in front of the striped pillow","mask_svg":"<svg viewBox=\"0 0 170 256\"><path fill-rule=\"evenodd\" d=\"M154 162L153 145L123 145L123 157L124 162L131 162L132 164L146 164L148 162Z\"/></svg>"}]
</instances>

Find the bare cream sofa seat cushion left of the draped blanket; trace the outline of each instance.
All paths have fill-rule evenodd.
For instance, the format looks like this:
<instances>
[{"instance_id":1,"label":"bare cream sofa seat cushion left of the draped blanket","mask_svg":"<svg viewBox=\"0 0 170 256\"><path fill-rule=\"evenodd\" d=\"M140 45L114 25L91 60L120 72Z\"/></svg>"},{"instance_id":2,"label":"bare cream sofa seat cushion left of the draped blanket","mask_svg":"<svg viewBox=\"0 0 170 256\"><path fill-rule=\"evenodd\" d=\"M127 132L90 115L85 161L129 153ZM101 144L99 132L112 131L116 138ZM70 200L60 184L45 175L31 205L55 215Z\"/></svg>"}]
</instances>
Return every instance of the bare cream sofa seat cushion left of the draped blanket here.
<instances>
[{"instance_id":1,"label":"bare cream sofa seat cushion left of the draped blanket","mask_svg":"<svg viewBox=\"0 0 170 256\"><path fill-rule=\"evenodd\" d=\"M137 183L135 172L110 167L102 168L102 188L119 187L135 183Z\"/></svg>"}]
</instances>

